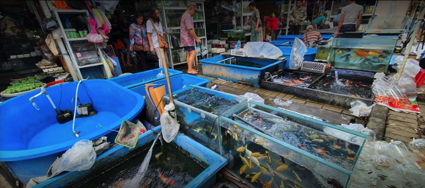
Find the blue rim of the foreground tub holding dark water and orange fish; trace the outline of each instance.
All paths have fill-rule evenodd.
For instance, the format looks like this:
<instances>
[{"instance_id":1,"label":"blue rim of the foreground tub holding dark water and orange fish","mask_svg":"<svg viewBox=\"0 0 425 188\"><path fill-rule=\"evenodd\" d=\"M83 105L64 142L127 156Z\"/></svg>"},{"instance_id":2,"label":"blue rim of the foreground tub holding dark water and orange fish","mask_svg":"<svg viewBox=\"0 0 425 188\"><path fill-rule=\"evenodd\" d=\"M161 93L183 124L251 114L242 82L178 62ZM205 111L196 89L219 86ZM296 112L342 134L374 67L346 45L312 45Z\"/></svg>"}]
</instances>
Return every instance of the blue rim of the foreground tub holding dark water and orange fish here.
<instances>
[{"instance_id":1,"label":"blue rim of the foreground tub holding dark water and orange fish","mask_svg":"<svg viewBox=\"0 0 425 188\"><path fill-rule=\"evenodd\" d=\"M158 133L161 131L161 127L156 127L153 131ZM145 134L139 135L139 141L136 147L148 147L145 144L151 143L156 136L153 131L150 130ZM180 146L185 152L189 153L192 158L200 162L205 162L208 165L208 167L190 181L185 188L212 188L216 184L216 173L227 164L227 160L184 134L177 134L173 142ZM130 150L128 150L128 148L120 145L116 146L97 156L96 161L89 170L65 172L33 188L58 188L65 185L80 185L81 182L84 182L88 177L92 178L93 176L101 174L105 169L110 168L110 166L114 164L114 161L121 160L129 152Z\"/></svg>"}]
</instances>

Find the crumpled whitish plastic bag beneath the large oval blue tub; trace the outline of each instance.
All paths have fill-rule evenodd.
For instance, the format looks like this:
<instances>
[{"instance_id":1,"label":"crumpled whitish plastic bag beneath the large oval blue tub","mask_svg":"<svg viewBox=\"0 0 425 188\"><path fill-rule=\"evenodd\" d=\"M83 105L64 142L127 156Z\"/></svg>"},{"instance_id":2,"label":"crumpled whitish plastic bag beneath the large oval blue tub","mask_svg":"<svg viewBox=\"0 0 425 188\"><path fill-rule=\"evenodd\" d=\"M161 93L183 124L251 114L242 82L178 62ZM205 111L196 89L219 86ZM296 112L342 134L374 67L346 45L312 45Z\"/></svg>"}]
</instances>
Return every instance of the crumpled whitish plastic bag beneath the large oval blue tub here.
<instances>
[{"instance_id":1,"label":"crumpled whitish plastic bag beneath the large oval blue tub","mask_svg":"<svg viewBox=\"0 0 425 188\"><path fill-rule=\"evenodd\" d=\"M88 139L77 141L71 149L66 150L62 155L62 161L57 172L90 169L96 160L96 152L92 145L93 143Z\"/></svg>"}]
</instances>

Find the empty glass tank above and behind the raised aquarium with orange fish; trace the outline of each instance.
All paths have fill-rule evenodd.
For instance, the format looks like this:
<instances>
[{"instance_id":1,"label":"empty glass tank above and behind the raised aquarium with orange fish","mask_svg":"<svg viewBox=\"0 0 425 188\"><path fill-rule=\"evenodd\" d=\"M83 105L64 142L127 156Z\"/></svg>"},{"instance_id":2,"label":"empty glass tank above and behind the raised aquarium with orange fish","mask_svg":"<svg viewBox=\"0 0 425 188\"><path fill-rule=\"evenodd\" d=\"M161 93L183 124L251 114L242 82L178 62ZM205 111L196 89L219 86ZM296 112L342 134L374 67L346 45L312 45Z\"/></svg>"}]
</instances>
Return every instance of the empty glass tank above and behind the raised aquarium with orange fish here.
<instances>
[{"instance_id":1,"label":"empty glass tank above and behind the raised aquarium with orange fish","mask_svg":"<svg viewBox=\"0 0 425 188\"><path fill-rule=\"evenodd\" d=\"M370 17L365 33L402 33L409 16Z\"/></svg>"}]
</instances>

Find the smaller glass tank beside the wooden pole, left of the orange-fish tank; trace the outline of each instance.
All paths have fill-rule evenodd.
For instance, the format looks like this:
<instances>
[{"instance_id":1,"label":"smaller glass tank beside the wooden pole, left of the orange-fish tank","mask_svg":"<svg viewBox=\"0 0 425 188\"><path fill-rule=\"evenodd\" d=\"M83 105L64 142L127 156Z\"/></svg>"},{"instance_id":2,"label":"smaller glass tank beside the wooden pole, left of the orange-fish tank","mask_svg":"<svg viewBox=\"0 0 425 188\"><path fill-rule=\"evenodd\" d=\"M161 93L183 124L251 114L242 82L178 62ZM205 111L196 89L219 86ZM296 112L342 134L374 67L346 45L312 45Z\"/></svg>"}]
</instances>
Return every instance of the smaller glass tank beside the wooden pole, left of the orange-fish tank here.
<instances>
[{"instance_id":1,"label":"smaller glass tank beside the wooden pole, left of the orange-fish tank","mask_svg":"<svg viewBox=\"0 0 425 188\"><path fill-rule=\"evenodd\" d=\"M217 117L230 117L234 111L247 108L246 98L195 85L173 98L180 132L218 154L223 152ZM168 104L169 98L163 99Z\"/></svg>"}]
</instances>

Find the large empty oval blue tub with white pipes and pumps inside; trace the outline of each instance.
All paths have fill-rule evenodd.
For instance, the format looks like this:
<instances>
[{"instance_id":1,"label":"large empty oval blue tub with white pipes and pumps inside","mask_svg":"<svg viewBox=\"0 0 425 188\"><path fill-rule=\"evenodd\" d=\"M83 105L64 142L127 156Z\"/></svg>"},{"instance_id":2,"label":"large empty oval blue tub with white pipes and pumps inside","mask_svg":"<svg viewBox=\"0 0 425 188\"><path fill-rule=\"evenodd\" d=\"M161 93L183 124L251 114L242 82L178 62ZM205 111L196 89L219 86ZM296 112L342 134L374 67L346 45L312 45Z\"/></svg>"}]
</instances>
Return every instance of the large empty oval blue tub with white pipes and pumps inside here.
<instances>
[{"instance_id":1,"label":"large empty oval blue tub with white pipes and pumps inside","mask_svg":"<svg viewBox=\"0 0 425 188\"><path fill-rule=\"evenodd\" d=\"M77 83L58 84L46 91L56 107L73 111L75 103L71 100L75 97ZM145 105L141 95L113 81L83 81L78 89L78 100L82 104L92 103L97 114L76 118L75 131L80 132L77 138L72 132L72 121L57 122L56 112L45 95L33 100L39 110L32 106L29 99L39 92L36 90L0 103L0 161L4 161L24 184L32 177L45 176L56 157L78 140L93 140L115 133L96 128L98 123L117 130L123 120L134 120Z\"/></svg>"}]
</instances>

